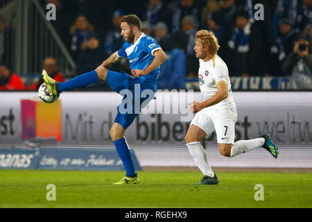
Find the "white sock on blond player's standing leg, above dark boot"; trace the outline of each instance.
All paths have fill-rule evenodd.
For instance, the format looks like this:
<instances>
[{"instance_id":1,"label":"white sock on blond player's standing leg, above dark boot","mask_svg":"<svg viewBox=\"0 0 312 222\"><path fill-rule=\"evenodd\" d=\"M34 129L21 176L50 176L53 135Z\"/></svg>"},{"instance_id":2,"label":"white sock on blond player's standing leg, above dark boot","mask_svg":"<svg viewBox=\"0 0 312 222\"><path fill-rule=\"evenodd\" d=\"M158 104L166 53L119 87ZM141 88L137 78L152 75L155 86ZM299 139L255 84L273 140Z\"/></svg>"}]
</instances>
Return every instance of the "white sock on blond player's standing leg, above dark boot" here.
<instances>
[{"instance_id":1,"label":"white sock on blond player's standing leg, above dark boot","mask_svg":"<svg viewBox=\"0 0 312 222\"><path fill-rule=\"evenodd\" d=\"M214 177L214 171L212 171L209 166L207 155L204 148L202 148L202 144L200 144L200 142L191 142L187 144L187 148L189 148L189 153L191 153L200 171L206 176Z\"/></svg>"}]
</instances>

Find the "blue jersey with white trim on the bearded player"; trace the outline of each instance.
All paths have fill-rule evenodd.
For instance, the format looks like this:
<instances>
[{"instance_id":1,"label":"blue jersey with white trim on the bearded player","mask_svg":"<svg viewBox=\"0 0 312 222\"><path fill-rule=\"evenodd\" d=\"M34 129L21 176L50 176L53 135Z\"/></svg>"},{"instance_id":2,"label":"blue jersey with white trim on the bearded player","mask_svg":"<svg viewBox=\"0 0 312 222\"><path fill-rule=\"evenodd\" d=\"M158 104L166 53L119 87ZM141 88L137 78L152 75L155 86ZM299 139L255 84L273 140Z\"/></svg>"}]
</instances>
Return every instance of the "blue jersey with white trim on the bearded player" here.
<instances>
[{"instance_id":1,"label":"blue jersey with white trim on the bearded player","mask_svg":"<svg viewBox=\"0 0 312 222\"><path fill-rule=\"evenodd\" d=\"M121 49L117 52L117 56L121 58L128 58L130 62L130 69L144 70L150 63L153 62L155 56L153 53L162 49L159 44L148 35L142 33L135 44L125 42ZM160 67L151 71L146 76L140 76L140 83L143 83L149 89L156 90L157 80L159 78Z\"/></svg>"}]
</instances>

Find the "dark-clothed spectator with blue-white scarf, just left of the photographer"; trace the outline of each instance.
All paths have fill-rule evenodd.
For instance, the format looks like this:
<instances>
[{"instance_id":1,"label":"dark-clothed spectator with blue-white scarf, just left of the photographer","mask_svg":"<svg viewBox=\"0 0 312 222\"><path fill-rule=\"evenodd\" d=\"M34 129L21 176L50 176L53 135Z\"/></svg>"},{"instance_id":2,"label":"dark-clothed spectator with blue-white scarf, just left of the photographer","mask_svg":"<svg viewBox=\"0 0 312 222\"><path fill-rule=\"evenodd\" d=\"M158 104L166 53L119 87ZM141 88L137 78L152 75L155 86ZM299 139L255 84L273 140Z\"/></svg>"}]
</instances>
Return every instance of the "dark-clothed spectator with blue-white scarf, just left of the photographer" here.
<instances>
[{"instance_id":1,"label":"dark-clothed spectator with blue-white scarf, just left of the photographer","mask_svg":"<svg viewBox=\"0 0 312 222\"><path fill-rule=\"evenodd\" d=\"M297 32L293 29L291 20L284 18L279 22L279 35L270 50L268 57L267 73L274 76L281 76L281 64L284 62L289 53L293 50L293 42Z\"/></svg>"}]
</instances>

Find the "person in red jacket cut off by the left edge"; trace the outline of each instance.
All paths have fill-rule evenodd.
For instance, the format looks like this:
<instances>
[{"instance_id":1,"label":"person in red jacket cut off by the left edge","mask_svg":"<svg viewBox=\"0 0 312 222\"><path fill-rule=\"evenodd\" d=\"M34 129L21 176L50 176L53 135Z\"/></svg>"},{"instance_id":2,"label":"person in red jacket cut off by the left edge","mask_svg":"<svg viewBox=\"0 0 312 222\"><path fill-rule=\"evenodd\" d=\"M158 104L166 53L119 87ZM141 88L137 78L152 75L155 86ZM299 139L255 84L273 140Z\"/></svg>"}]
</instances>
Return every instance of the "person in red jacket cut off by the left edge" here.
<instances>
[{"instance_id":1,"label":"person in red jacket cut off by the left edge","mask_svg":"<svg viewBox=\"0 0 312 222\"><path fill-rule=\"evenodd\" d=\"M21 77L13 74L6 65L0 65L0 90L24 90L25 85Z\"/></svg>"}]
</instances>

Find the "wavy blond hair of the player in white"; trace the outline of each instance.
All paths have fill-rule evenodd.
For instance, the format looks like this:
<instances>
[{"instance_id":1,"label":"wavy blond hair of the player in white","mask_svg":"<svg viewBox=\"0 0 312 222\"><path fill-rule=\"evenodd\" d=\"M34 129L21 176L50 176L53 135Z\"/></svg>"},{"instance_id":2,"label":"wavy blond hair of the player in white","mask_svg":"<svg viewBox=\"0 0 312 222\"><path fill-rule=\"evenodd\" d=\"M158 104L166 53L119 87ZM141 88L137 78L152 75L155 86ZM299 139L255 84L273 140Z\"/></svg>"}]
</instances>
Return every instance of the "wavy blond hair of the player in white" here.
<instances>
[{"instance_id":1,"label":"wavy blond hair of the player in white","mask_svg":"<svg viewBox=\"0 0 312 222\"><path fill-rule=\"evenodd\" d=\"M218 49L220 48L218 44L218 40L216 36L214 35L214 32L207 31L207 30L200 30L196 33L196 40L200 40L204 48L209 46L209 53L211 54L212 60L214 61L214 58L216 58L216 54L218 53ZM214 66L215 66L215 62L214 62Z\"/></svg>"}]
</instances>

